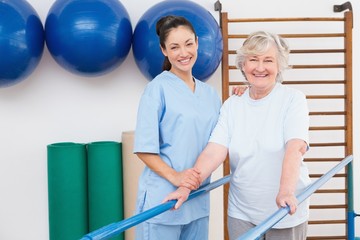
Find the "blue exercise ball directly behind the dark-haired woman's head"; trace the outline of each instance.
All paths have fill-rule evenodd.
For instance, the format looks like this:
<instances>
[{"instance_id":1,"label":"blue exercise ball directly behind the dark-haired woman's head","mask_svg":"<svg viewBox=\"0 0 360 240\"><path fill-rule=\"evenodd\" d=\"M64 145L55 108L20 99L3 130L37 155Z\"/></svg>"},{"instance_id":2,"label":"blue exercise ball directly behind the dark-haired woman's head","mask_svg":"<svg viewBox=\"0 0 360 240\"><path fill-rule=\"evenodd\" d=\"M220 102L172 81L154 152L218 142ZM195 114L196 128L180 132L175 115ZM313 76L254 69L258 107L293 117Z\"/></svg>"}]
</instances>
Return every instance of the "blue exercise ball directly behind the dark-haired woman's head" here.
<instances>
[{"instance_id":1,"label":"blue exercise ball directly behind the dark-haired woman's head","mask_svg":"<svg viewBox=\"0 0 360 240\"><path fill-rule=\"evenodd\" d=\"M142 74L153 79L162 71L164 55L156 35L156 22L166 15L187 18L199 37L198 59L193 75L206 81L220 64L223 39L218 23L202 6L187 0L166 0L151 7L140 18L133 35L133 54Z\"/></svg>"}]
</instances>

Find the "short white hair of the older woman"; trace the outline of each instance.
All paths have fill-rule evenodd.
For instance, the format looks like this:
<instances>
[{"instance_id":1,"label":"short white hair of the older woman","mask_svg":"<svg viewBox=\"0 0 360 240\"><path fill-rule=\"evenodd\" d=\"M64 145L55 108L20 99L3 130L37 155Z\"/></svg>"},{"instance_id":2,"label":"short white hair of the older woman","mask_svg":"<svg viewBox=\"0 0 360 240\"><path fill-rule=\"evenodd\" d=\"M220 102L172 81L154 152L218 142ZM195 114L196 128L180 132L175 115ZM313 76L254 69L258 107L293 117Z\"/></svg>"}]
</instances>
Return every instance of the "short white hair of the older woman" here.
<instances>
[{"instance_id":1,"label":"short white hair of the older woman","mask_svg":"<svg viewBox=\"0 0 360 240\"><path fill-rule=\"evenodd\" d=\"M251 33L243 43L242 47L237 50L235 59L236 67L241 69L241 72L244 74L242 67L244 65L245 58L251 55L262 55L272 46L275 46L277 49L277 62L279 66L279 73L276 77L276 81L282 82L283 70L290 68L288 64L290 50L285 39L273 33L265 31Z\"/></svg>"}]
</instances>

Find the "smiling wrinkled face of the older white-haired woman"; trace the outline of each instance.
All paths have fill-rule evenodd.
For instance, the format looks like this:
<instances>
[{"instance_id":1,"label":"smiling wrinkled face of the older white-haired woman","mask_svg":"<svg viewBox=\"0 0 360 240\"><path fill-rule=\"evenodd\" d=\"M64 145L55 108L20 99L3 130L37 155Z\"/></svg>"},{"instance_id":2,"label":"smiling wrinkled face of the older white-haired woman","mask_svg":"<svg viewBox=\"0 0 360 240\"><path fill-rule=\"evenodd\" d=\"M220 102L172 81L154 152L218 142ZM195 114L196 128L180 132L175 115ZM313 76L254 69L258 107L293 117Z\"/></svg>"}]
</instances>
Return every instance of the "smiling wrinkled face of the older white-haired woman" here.
<instances>
[{"instance_id":1,"label":"smiling wrinkled face of the older white-haired woman","mask_svg":"<svg viewBox=\"0 0 360 240\"><path fill-rule=\"evenodd\" d=\"M270 47L262 55L250 55L242 66L246 79L252 87L266 89L273 86L279 72L277 48Z\"/></svg>"}]
</instances>

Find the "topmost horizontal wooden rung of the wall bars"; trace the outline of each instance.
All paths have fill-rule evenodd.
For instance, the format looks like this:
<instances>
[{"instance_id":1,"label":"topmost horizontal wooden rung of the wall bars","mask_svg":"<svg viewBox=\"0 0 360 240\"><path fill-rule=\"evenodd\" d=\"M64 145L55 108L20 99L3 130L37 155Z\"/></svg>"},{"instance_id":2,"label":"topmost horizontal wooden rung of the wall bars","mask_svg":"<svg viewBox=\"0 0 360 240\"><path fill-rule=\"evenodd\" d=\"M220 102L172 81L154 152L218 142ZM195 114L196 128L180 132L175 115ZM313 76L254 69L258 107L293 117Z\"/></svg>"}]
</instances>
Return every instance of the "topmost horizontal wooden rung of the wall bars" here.
<instances>
[{"instance_id":1,"label":"topmost horizontal wooden rung of the wall bars","mask_svg":"<svg viewBox=\"0 0 360 240\"><path fill-rule=\"evenodd\" d=\"M345 18L229 18L229 23L245 23L245 22L338 22L345 21Z\"/></svg>"}]
</instances>

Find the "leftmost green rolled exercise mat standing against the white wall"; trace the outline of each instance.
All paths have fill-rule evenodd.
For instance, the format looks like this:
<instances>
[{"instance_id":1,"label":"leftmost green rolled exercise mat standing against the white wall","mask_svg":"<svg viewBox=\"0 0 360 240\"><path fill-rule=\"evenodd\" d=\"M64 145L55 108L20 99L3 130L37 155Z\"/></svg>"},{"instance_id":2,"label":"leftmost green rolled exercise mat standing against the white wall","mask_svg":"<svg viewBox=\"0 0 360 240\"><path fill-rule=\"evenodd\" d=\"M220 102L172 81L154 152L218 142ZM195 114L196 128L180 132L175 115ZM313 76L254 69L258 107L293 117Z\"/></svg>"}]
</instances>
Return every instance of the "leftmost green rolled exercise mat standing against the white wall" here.
<instances>
[{"instance_id":1,"label":"leftmost green rolled exercise mat standing against the white wall","mask_svg":"<svg viewBox=\"0 0 360 240\"><path fill-rule=\"evenodd\" d=\"M47 146L50 240L80 239L88 232L86 145Z\"/></svg>"}]
</instances>

